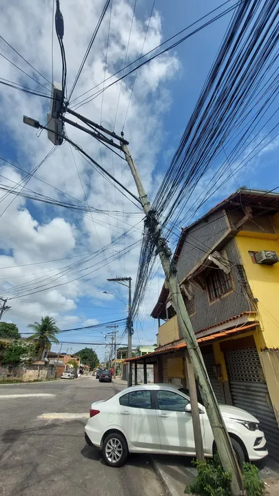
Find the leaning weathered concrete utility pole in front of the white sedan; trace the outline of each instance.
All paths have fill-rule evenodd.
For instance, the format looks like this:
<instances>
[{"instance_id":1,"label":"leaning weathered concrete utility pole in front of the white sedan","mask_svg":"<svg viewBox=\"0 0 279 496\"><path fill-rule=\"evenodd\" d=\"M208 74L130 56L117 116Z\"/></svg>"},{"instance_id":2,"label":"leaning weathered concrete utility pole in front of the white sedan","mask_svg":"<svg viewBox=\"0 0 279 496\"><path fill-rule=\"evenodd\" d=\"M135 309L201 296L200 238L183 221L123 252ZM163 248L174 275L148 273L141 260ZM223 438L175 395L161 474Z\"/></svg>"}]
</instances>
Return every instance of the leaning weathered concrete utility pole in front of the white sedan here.
<instances>
[{"instance_id":1,"label":"leaning weathered concrete utility pole in front of the white sedan","mask_svg":"<svg viewBox=\"0 0 279 496\"><path fill-rule=\"evenodd\" d=\"M123 136L123 133L121 133ZM214 391L210 384L209 376L207 374L207 369L205 368L205 363L203 361L203 356L200 353L200 348L196 340L194 329L192 327L192 322L187 313L183 296L180 291L178 284L178 279L176 277L176 270L172 265L170 260L171 251L167 246L167 242L161 236L161 231L158 227L158 222L156 220L156 214L152 211L148 196L141 183L141 178L138 174L138 169L134 163L130 151L127 145L120 142L121 149L125 155L125 160L130 167L134 182L136 183L136 188L138 189L138 196L141 199L143 205L143 210L145 211L146 221L149 225L152 225L154 229L154 234L156 234L156 246L158 250L158 255L160 256L163 270L165 272L165 278L167 280L167 287L169 289L170 296L172 298L172 304L174 310L176 311L178 325L180 331L183 334L183 338L187 344L187 350L189 352L189 358L192 362L194 373L198 384L200 386L200 394L203 397L203 402L205 404L205 409L207 411L207 416L211 425L211 429L214 434L214 440L216 442L218 455L223 468L226 472L232 474L231 479L231 492L234 496L245 494L243 488L242 474L238 466L236 455L234 449L231 445L231 440L229 434L227 433L227 428L225 426L223 417L220 413L218 402L214 395ZM194 421L194 418L193 418ZM194 425L194 431L197 426Z\"/></svg>"}]
</instances>

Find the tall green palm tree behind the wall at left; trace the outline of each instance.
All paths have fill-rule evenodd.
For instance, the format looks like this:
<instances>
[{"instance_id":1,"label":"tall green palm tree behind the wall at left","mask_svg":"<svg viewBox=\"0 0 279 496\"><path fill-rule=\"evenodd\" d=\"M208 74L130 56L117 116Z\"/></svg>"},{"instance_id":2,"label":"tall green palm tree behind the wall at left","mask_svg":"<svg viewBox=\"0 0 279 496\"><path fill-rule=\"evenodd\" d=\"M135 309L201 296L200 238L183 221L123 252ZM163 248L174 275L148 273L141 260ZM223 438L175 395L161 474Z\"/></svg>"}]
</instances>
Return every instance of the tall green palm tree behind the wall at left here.
<instances>
[{"instance_id":1,"label":"tall green palm tree behind the wall at left","mask_svg":"<svg viewBox=\"0 0 279 496\"><path fill-rule=\"evenodd\" d=\"M56 326L54 318L48 316L42 317L41 322L29 324L28 327L35 331L28 340L36 340L35 350L36 355L40 360L43 357L45 349L50 350L52 345L51 342L59 343L55 334L59 333L60 329Z\"/></svg>"}]
</instances>

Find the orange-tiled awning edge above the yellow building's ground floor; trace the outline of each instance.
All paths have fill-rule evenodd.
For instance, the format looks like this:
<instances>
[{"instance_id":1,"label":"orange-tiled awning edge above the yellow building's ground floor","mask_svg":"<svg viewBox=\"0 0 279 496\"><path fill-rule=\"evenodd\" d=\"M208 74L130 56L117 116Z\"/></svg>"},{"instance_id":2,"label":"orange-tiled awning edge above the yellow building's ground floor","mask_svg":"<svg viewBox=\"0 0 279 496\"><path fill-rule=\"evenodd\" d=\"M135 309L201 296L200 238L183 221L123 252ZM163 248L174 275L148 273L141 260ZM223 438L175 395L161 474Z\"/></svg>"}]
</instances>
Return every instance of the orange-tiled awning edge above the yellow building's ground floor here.
<instances>
[{"instance_id":1,"label":"orange-tiled awning edge above the yellow building's ground floor","mask_svg":"<svg viewBox=\"0 0 279 496\"><path fill-rule=\"evenodd\" d=\"M212 341L229 338L231 335L236 335L236 333L242 333L243 331L251 331L251 329L254 329L255 327L257 327L257 325L258 325L258 322L254 322L254 324L236 327L235 329L229 329L228 331L220 331L216 334L211 334L211 335L205 336L204 338L198 338L197 341L199 344L200 343L208 343L209 344ZM155 358L156 355L162 355L163 353L173 353L174 351L179 351L182 348L185 348L185 349L187 348L187 345L185 342L180 343L180 344L175 344L172 347L159 349L157 351L154 351L154 353L147 353L147 355L143 355L140 357L126 358L125 362L138 362L139 360L146 360L147 358L152 358L152 357Z\"/></svg>"}]
</instances>

